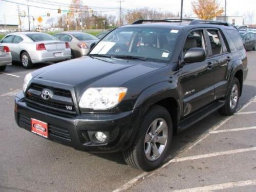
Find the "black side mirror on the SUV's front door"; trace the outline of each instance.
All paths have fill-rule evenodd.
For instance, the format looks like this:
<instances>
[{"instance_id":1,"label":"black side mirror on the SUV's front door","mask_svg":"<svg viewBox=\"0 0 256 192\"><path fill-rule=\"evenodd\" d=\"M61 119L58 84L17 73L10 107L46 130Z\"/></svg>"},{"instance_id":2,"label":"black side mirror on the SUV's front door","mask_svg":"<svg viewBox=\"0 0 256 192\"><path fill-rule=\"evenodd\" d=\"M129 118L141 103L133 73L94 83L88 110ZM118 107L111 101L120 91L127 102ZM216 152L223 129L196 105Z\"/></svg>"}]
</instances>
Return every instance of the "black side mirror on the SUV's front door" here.
<instances>
[{"instance_id":1,"label":"black side mirror on the SUV's front door","mask_svg":"<svg viewBox=\"0 0 256 192\"><path fill-rule=\"evenodd\" d=\"M185 53L184 62L202 62L205 58L206 54L203 48L191 48Z\"/></svg>"}]
</instances>

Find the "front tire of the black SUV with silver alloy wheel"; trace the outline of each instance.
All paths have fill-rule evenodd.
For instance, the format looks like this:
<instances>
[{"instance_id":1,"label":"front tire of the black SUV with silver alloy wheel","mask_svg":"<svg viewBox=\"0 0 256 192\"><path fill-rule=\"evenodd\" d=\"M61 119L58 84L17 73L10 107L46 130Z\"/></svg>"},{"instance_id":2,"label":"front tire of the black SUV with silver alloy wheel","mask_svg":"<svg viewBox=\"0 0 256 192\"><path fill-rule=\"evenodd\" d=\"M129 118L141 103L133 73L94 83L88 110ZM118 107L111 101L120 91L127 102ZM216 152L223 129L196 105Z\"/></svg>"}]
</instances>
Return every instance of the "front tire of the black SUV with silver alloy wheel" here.
<instances>
[{"instance_id":1,"label":"front tire of the black SUV with silver alloy wheel","mask_svg":"<svg viewBox=\"0 0 256 192\"><path fill-rule=\"evenodd\" d=\"M134 168L145 171L159 167L166 158L173 137L169 112L153 106L144 116L133 145L123 152L124 160Z\"/></svg>"}]
</instances>

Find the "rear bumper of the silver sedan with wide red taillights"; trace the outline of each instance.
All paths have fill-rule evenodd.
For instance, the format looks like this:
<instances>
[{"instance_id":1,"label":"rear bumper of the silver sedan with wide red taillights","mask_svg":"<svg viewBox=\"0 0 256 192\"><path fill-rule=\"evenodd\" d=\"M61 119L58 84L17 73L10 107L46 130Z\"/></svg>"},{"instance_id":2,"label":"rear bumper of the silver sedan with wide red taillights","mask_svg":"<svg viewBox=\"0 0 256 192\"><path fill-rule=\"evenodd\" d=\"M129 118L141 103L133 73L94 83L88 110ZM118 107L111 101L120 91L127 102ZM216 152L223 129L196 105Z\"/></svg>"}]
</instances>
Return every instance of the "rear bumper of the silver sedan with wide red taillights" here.
<instances>
[{"instance_id":1,"label":"rear bumper of the silver sedan with wide red taillights","mask_svg":"<svg viewBox=\"0 0 256 192\"><path fill-rule=\"evenodd\" d=\"M55 57L55 53L60 53L61 56ZM33 63L38 62L57 62L71 58L71 50L56 50L56 51L33 51L29 53Z\"/></svg>"}]
</instances>

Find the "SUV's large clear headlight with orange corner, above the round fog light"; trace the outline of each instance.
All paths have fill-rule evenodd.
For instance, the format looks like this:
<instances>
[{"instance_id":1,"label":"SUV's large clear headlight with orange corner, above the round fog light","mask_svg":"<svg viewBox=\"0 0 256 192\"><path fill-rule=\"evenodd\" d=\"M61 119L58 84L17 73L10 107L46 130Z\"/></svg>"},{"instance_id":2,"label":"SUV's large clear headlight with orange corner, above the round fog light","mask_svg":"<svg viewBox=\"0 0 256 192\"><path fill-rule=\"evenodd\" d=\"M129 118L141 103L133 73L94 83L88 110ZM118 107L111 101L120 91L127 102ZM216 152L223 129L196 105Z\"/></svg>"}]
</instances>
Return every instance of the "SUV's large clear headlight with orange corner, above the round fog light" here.
<instances>
[{"instance_id":1,"label":"SUV's large clear headlight with orange corner, above the round fog light","mask_svg":"<svg viewBox=\"0 0 256 192\"><path fill-rule=\"evenodd\" d=\"M108 110L114 108L126 94L127 88L89 88L80 99L79 107Z\"/></svg>"}]
</instances>

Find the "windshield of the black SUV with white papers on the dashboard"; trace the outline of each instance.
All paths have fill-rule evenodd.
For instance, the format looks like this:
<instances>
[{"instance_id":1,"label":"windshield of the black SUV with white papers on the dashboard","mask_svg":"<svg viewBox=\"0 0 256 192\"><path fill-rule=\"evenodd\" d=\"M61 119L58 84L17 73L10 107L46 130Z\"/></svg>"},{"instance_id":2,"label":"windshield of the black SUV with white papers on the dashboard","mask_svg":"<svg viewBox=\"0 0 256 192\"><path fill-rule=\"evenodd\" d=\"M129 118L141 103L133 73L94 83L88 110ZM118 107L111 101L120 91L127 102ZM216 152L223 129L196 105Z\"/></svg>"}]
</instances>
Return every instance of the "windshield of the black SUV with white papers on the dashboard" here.
<instances>
[{"instance_id":1,"label":"windshield of the black SUV with white papers on the dashboard","mask_svg":"<svg viewBox=\"0 0 256 192\"><path fill-rule=\"evenodd\" d=\"M119 28L105 36L90 55L168 61L173 54L178 32L176 29Z\"/></svg>"}]
</instances>

